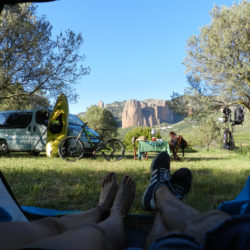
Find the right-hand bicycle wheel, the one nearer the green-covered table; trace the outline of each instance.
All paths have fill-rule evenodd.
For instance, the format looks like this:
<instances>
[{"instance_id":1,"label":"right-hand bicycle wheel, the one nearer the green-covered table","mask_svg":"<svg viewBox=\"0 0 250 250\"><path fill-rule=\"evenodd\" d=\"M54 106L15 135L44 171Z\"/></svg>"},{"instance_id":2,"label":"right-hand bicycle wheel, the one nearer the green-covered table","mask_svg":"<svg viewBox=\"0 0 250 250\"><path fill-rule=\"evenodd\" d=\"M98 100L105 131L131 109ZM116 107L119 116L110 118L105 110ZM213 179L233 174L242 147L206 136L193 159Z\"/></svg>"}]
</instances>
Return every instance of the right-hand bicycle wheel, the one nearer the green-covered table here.
<instances>
[{"instance_id":1,"label":"right-hand bicycle wheel, the one nearer the green-covered table","mask_svg":"<svg viewBox=\"0 0 250 250\"><path fill-rule=\"evenodd\" d=\"M124 157L125 147L118 139L109 139L104 142L101 152L107 161L119 161Z\"/></svg>"}]
</instances>

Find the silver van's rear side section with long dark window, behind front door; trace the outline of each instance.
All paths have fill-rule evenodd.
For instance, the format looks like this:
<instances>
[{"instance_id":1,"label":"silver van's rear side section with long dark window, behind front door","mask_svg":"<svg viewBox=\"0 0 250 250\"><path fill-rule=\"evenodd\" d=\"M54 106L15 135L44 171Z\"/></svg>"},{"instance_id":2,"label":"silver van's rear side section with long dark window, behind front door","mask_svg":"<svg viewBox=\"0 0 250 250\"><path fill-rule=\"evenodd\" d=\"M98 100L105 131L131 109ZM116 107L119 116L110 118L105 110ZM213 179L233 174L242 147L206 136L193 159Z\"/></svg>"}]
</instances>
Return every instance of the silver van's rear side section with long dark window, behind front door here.
<instances>
[{"instance_id":1,"label":"silver van's rear side section with long dark window, behind front door","mask_svg":"<svg viewBox=\"0 0 250 250\"><path fill-rule=\"evenodd\" d=\"M1 134L7 141L10 151L28 151L31 149L30 123L32 111L1 112Z\"/></svg>"}]
</instances>

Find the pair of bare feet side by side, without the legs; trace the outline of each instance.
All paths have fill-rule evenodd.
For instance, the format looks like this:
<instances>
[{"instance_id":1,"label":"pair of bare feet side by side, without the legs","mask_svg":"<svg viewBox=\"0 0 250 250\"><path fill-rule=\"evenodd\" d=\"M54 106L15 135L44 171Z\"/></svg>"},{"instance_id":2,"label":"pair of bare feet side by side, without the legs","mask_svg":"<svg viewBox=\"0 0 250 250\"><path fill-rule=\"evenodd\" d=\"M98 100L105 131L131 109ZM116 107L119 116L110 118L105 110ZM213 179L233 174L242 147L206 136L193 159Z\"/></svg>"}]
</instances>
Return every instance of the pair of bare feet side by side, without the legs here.
<instances>
[{"instance_id":1,"label":"pair of bare feet side by side, without the legs","mask_svg":"<svg viewBox=\"0 0 250 250\"><path fill-rule=\"evenodd\" d=\"M120 210L122 216L128 214L135 198L136 184L134 180L125 175L118 186L115 173L108 173L102 182L99 208L104 213L110 210Z\"/></svg>"}]
</instances>

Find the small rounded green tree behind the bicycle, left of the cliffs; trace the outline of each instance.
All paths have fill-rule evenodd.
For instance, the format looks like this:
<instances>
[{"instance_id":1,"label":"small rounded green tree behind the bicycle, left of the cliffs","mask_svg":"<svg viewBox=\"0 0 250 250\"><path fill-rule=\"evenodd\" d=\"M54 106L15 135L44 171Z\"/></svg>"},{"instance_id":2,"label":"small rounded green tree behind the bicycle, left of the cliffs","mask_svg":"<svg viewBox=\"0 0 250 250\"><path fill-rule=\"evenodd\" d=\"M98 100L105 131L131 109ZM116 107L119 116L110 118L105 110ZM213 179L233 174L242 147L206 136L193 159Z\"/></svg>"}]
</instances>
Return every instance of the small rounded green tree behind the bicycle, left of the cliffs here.
<instances>
[{"instance_id":1,"label":"small rounded green tree behind the bicycle, left of the cliffs","mask_svg":"<svg viewBox=\"0 0 250 250\"><path fill-rule=\"evenodd\" d=\"M104 139L117 136L118 123L107 109L92 105L87 109L82 119L84 122L88 122L88 126L99 134L103 133L102 129L107 129L104 131Z\"/></svg>"}]
</instances>

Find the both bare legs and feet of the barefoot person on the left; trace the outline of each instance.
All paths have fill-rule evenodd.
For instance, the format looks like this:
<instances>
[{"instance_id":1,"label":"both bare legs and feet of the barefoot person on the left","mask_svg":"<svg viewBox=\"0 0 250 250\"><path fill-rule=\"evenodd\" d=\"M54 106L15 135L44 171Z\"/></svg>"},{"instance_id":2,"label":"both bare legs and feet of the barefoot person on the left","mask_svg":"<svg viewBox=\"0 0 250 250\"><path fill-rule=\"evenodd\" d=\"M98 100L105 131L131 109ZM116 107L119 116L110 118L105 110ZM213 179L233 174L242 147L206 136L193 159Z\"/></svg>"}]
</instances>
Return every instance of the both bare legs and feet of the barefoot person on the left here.
<instances>
[{"instance_id":1,"label":"both bare legs and feet of the barefoot person on the left","mask_svg":"<svg viewBox=\"0 0 250 250\"><path fill-rule=\"evenodd\" d=\"M135 183L129 176L117 191L115 174L110 173L102 183L98 207L60 219L1 223L0 248L122 249L123 216L134 193Z\"/></svg>"}]
</instances>

